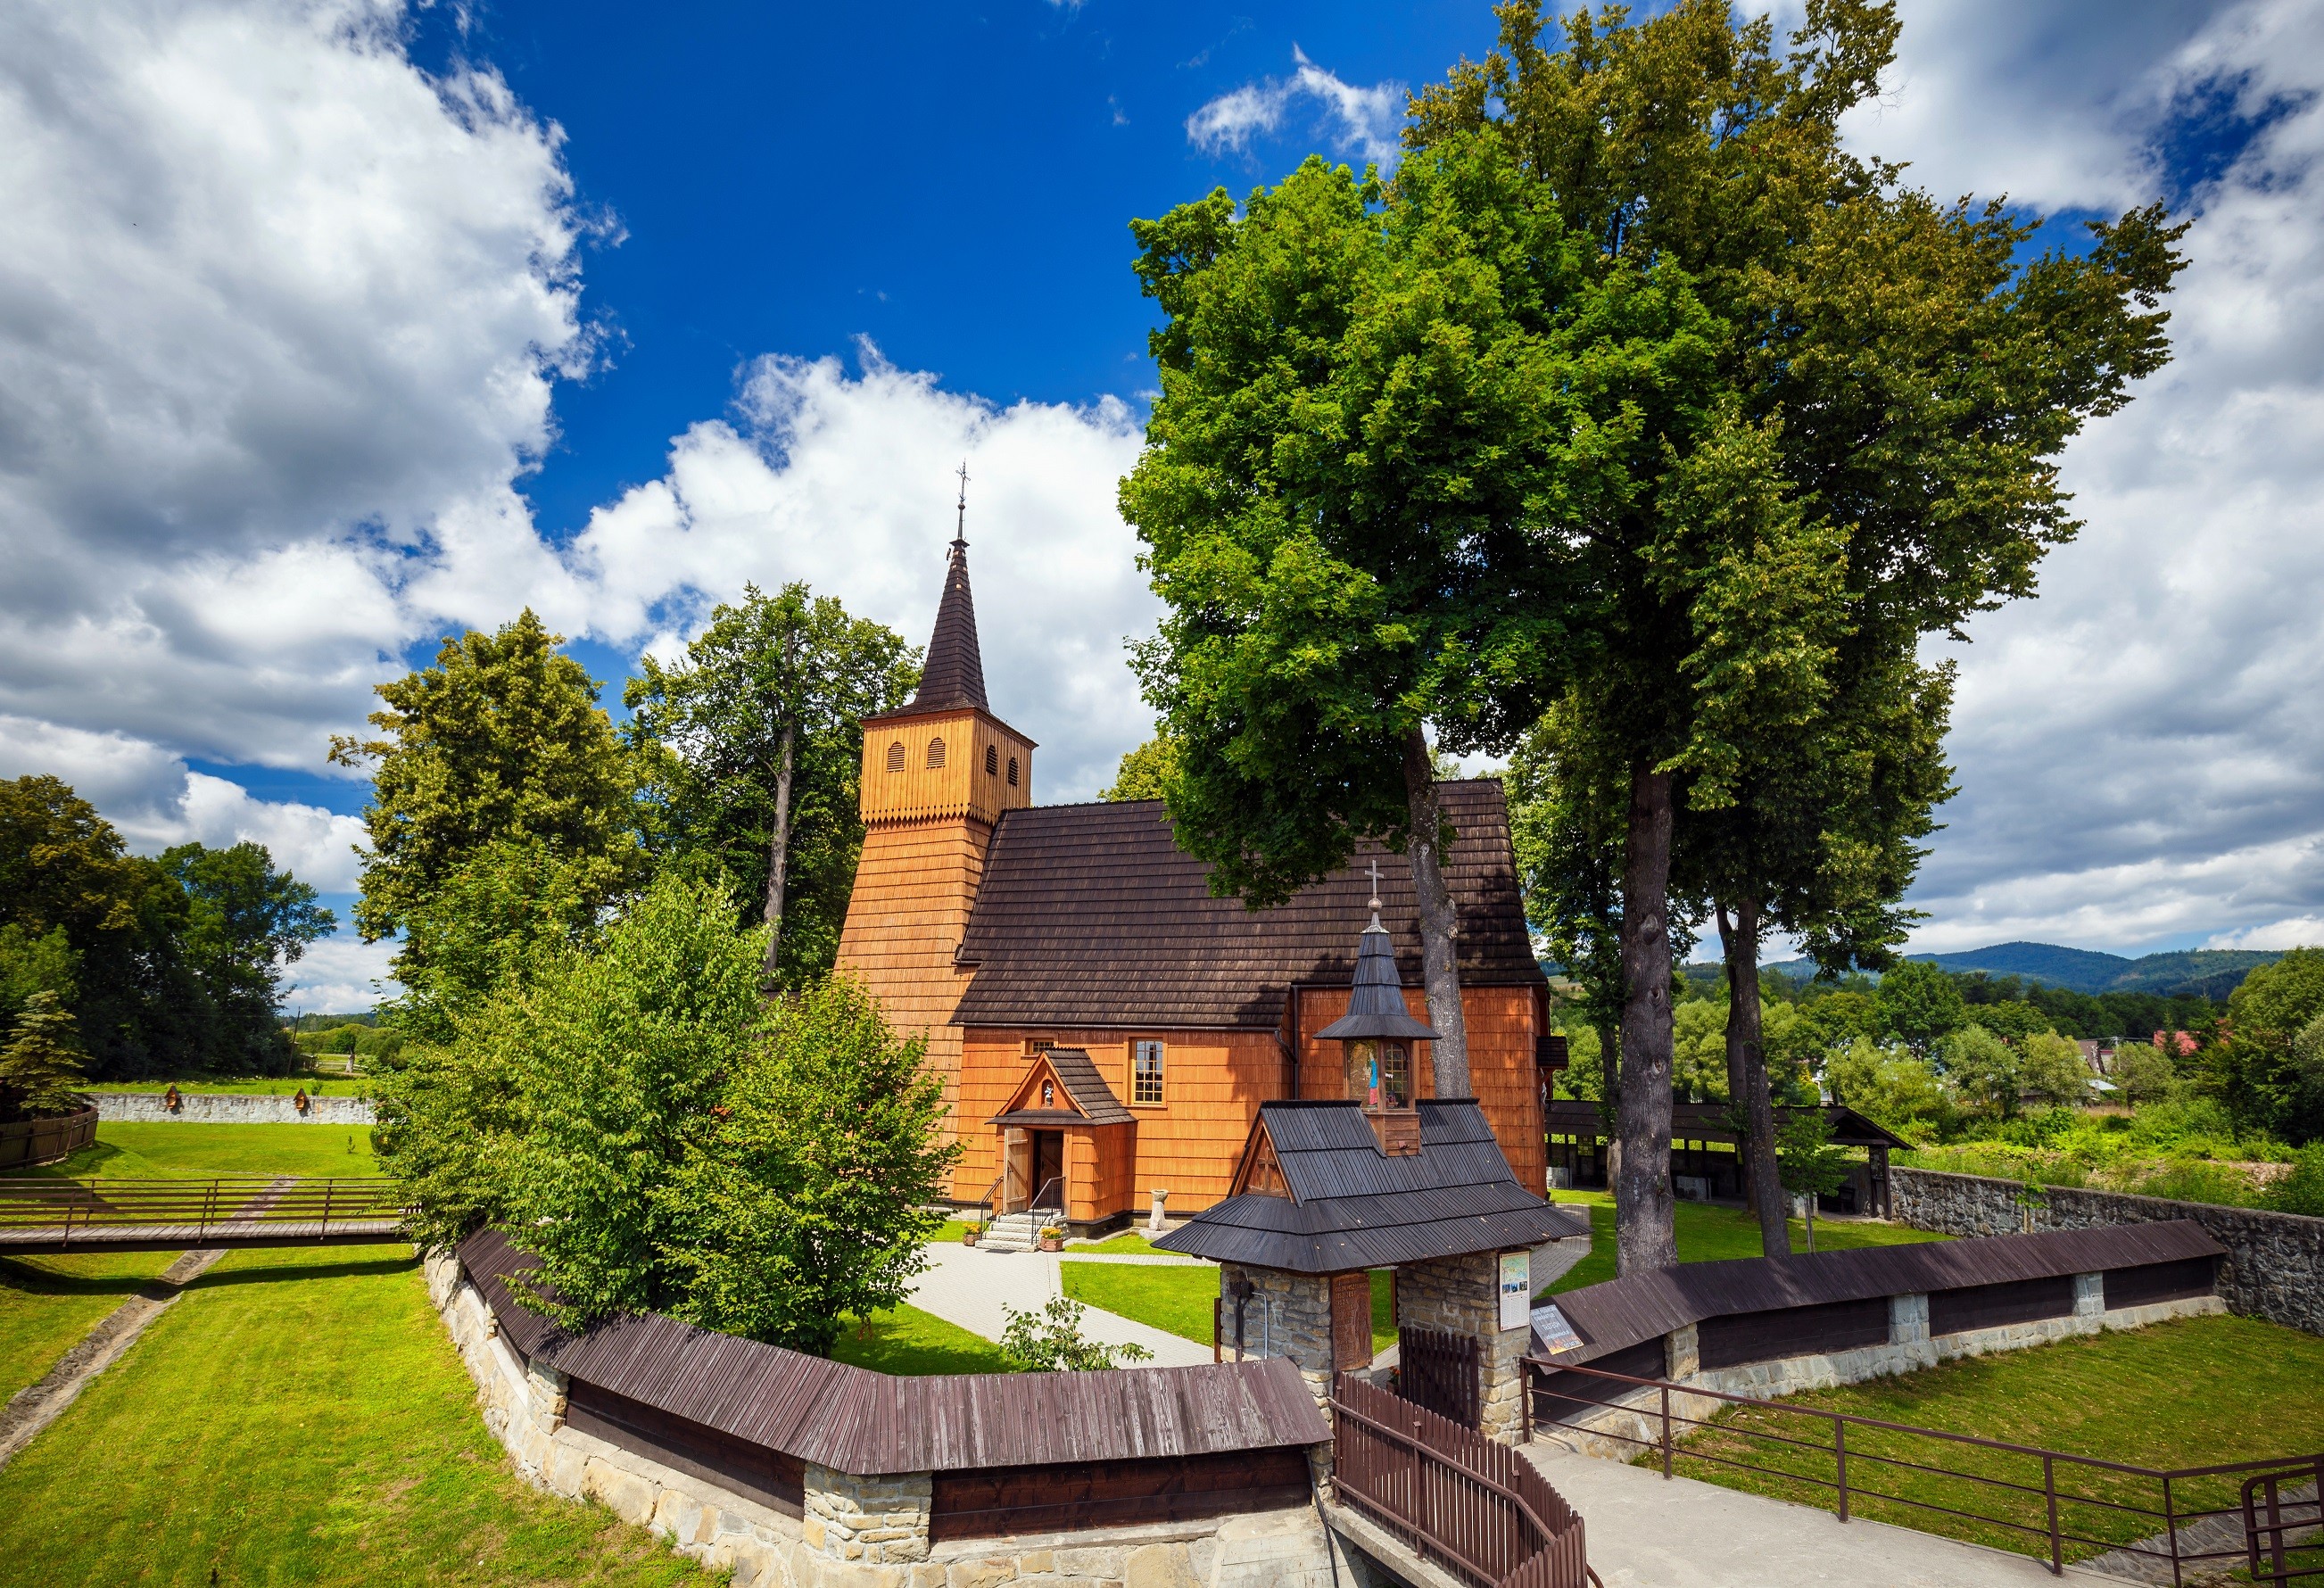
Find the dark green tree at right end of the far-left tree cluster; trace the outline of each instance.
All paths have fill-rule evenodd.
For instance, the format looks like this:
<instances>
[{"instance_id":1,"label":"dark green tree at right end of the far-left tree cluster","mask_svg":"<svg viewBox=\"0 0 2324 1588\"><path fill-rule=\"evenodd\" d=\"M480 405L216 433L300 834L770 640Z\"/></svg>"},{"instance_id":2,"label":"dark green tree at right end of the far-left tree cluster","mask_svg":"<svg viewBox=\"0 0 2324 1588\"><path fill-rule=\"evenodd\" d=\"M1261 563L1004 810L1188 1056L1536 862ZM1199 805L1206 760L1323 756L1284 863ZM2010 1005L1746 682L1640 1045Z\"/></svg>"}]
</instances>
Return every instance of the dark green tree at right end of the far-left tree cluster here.
<instances>
[{"instance_id":1,"label":"dark green tree at right end of the far-left tree cluster","mask_svg":"<svg viewBox=\"0 0 2324 1588\"><path fill-rule=\"evenodd\" d=\"M311 886L277 872L265 844L177 844L160 867L186 893L179 942L216 1011L216 1063L279 1074L293 1053L281 1032L281 967L330 937L337 916Z\"/></svg>"}]
</instances>

